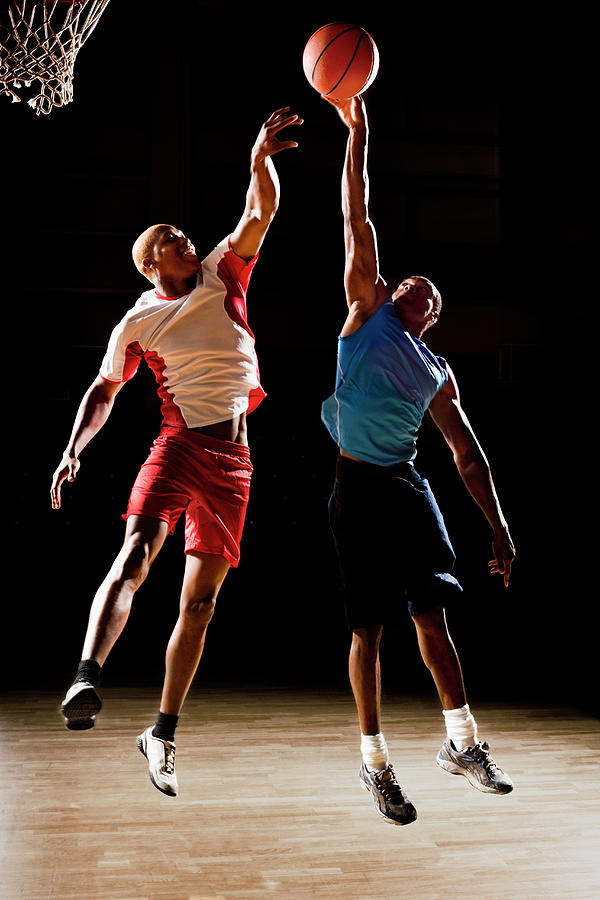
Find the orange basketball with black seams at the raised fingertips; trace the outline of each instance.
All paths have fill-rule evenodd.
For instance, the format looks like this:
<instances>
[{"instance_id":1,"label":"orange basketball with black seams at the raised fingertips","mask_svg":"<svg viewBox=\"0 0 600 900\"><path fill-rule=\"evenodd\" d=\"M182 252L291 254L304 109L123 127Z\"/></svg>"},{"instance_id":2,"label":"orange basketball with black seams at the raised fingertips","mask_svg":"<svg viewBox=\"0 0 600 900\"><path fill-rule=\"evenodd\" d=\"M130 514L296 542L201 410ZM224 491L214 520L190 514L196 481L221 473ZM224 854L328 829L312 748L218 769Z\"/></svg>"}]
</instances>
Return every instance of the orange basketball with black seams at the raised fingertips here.
<instances>
[{"instance_id":1,"label":"orange basketball with black seams at the raised fingertips","mask_svg":"<svg viewBox=\"0 0 600 900\"><path fill-rule=\"evenodd\" d=\"M310 36L302 65L309 84L319 94L347 100L373 83L379 69L379 51L360 25L331 22Z\"/></svg>"}]
</instances>

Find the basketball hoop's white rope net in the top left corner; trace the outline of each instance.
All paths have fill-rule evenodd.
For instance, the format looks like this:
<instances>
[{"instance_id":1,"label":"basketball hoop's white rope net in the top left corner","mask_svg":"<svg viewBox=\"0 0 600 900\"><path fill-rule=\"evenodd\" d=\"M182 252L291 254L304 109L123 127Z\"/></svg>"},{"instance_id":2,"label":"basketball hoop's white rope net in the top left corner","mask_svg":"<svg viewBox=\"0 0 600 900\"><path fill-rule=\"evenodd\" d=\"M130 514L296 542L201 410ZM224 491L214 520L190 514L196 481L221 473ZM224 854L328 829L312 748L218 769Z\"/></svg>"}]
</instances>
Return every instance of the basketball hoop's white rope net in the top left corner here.
<instances>
[{"instance_id":1,"label":"basketball hoop's white rope net in the top left corner","mask_svg":"<svg viewBox=\"0 0 600 900\"><path fill-rule=\"evenodd\" d=\"M70 103L75 57L108 2L9 0L11 24L0 23L0 95L19 103L15 91L38 81L39 94L28 100L36 115Z\"/></svg>"}]
</instances>

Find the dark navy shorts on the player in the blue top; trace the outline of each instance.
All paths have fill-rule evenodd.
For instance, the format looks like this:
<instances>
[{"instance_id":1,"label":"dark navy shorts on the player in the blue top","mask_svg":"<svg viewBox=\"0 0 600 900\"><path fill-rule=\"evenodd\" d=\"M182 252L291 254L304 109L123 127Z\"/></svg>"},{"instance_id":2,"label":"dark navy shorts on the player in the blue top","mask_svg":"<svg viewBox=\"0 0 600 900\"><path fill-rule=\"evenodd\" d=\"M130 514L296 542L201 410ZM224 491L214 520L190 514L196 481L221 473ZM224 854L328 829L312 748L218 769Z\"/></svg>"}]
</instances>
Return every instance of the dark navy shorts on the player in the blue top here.
<instances>
[{"instance_id":1,"label":"dark navy shorts on the player in the blue top","mask_svg":"<svg viewBox=\"0 0 600 900\"><path fill-rule=\"evenodd\" d=\"M410 463L374 466L338 456L329 500L349 628L446 606L462 588L427 479Z\"/></svg>"}]
</instances>

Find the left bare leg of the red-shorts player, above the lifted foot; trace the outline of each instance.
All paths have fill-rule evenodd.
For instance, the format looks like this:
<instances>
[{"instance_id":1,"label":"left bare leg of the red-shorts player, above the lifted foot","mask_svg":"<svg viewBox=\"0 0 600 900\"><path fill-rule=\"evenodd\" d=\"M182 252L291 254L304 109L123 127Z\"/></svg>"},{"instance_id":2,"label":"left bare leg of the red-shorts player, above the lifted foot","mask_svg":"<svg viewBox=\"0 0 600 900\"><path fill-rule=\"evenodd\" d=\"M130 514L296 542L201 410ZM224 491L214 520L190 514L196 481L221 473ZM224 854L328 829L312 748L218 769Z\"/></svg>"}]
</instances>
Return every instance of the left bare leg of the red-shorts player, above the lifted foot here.
<instances>
[{"instance_id":1,"label":"left bare leg of the red-shorts player, above the lifted foot","mask_svg":"<svg viewBox=\"0 0 600 900\"><path fill-rule=\"evenodd\" d=\"M168 524L150 516L130 516L125 540L90 609L82 659L101 666L129 618L133 596L143 584L168 533Z\"/></svg>"}]
</instances>

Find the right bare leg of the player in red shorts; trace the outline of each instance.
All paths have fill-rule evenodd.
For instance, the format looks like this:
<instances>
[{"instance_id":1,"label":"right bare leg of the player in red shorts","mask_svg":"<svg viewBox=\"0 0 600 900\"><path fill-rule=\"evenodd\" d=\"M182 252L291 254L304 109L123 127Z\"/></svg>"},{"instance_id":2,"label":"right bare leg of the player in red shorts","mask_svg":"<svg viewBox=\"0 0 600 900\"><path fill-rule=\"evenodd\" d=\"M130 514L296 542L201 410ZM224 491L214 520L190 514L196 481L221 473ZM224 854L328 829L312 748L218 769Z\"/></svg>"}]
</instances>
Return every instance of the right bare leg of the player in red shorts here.
<instances>
[{"instance_id":1,"label":"right bare leg of the player in red shorts","mask_svg":"<svg viewBox=\"0 0 600 900\"><path fill-rule=\"evenodd\" d=\"M181 591L179 618L166 653L160 711L179 715L190 688L213 617L217 594L229 570L220 556L189 554Z\"/></svg>"}]
</instances>

